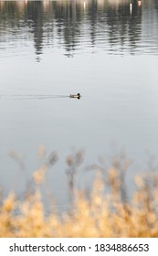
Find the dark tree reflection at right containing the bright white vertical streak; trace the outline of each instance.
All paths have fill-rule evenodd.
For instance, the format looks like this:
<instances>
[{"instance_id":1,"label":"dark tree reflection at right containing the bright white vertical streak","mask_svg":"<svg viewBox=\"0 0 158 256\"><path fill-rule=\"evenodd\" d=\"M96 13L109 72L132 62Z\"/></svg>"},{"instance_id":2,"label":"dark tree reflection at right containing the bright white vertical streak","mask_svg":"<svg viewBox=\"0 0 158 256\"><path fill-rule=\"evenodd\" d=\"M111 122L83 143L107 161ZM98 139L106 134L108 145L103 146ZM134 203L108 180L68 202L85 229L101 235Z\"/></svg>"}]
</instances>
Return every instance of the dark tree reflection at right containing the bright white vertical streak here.
<instances>
[{"instance_id":1,"label":"dark tree reflection at right containing the bright white vertical streak","mask_svg":"<svg viewBox=\"0 0 158 256\"><path fill-rule=\"evenodd\" d=\"M123 49L127 40L130 42L131 52L137 48L142 32L142 12L137 1L131 1L131 5L123 3L109 6L107 17L111 50L116 44L120 44Z\"/></svg>"}]
</instances>

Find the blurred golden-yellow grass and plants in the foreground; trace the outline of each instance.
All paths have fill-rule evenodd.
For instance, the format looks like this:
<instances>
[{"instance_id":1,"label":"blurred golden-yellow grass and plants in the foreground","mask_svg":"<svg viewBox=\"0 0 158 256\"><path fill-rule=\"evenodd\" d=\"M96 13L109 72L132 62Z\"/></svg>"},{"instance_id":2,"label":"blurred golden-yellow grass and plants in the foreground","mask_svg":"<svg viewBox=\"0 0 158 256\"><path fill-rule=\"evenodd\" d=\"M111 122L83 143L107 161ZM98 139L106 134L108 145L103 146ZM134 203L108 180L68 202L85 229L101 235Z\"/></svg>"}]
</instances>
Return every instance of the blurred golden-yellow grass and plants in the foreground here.
<instances>
[{"instance_id":1,"label":"blurred golden-yellow grass and plants in the foreground","mask_svg":"<svg viewBox=\"0 0 158 256\"><path fill-rule=\"evenodd\" d=\"M43 148L38 155L44 155ZM41 184L49 165L58 160L57 155L52 154L34 172L32 193L23 200L18 200L13 191L1 198L0 237L158 237L156 173L135 176L137 188L129 199L124 182L129 166L126 157L115 158L106 170L102 165L90 165L88 169L96 169L96 178L88 195L75 186L82 156L79 152L67 158L68 187L73 198L69 212L45 213Z\"/></svg>"}]
</instances>

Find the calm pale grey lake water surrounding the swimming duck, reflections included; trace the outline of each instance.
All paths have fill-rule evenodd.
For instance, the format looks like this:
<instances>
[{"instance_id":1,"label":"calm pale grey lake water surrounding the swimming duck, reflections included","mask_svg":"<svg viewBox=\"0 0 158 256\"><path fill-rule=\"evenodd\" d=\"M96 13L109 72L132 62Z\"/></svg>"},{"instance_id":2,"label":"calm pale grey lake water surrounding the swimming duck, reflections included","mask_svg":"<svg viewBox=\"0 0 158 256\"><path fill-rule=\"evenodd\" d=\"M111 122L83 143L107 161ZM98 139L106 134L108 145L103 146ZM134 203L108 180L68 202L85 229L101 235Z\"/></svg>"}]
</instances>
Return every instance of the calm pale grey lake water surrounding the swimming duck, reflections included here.
<instances>
[{"instance_id":1,"label":"calm pale grey lake water surrounding the swimming duck, reflections included","mask_svg":"<svg viewBox=\"0 0 158 256\"><path fill-rule=\"evenodd\" d=\"M90 164L123 146L137 172L146 150L158 155L157 68L157 0L0 1L4 190L25 190L39 145L59 156L48 180L60 209L71 147ZM25 170L10 150L24 155Z\"/></svg>"}]
</instances>

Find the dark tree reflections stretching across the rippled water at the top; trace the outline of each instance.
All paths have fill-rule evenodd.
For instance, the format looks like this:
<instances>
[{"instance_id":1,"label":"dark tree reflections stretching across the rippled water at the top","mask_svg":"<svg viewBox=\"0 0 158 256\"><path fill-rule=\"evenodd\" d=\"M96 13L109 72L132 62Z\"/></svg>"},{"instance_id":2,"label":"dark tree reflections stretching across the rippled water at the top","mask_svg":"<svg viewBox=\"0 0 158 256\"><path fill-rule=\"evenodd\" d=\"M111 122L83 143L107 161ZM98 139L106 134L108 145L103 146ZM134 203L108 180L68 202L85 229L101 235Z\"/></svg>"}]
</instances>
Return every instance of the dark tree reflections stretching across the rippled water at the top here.
<instances>
[{"instance_id":1,"label":"dark tree reflections stretching across the rippled water at the top","mask_svg":"<svg viewBox=\"0 0 158 256\"><path fill-rule=\"evenodd\" d=\"M157 1L150 1L158 9ZM142 37L142 13L149 1L1 1L0 43L5 35L34 41L37 60L44 47L64 48L73 57L83 48L134 54ZM4 35L5 34L5 35ZM7 36L6 36L7 37ZM158 48L158 45L157 45Z\"/></svg>"}]
</instances>

